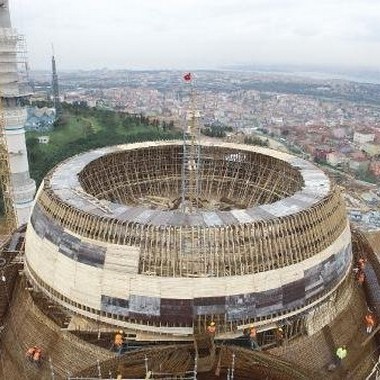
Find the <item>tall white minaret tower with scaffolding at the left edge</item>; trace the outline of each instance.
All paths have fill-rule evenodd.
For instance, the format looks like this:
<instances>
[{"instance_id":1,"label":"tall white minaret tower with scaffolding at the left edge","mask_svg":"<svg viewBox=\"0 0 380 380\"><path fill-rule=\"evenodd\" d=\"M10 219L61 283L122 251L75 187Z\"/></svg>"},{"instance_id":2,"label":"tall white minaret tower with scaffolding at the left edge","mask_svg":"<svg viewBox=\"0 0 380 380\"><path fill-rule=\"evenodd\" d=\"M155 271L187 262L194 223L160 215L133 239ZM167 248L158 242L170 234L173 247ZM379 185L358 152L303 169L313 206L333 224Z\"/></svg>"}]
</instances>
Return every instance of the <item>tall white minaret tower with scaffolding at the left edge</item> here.
<instances>
[{"instance_id":1,"label":"tall white minaret tower with scaffolding at the left edge","mask_svg":"<svg viewBox=\"0 0 380 380\"><path fill-rule=\"evenodd\" d=\"M0 116L9 153L10 188L17 226L28 221L36 184L29 176L25 145L25 100L30 93L20 88L17 44L22 37L12 29L9 0L0 0Z\"/></svg>"}]
</instances>

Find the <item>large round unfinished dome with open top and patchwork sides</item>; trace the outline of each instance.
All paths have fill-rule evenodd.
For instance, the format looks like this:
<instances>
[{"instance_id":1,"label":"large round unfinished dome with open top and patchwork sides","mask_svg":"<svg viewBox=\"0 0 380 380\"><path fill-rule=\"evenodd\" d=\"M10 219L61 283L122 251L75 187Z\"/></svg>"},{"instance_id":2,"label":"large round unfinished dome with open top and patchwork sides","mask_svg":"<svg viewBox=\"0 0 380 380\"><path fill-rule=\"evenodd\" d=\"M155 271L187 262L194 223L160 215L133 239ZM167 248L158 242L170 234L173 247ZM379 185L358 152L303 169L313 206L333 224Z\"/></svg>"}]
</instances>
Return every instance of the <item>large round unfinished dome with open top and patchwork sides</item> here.
<instances>
[{"instance_id":1,"label":"large round unfinished dome with open top and patchwork sides","mask_svg":"<svg viewBox=\"0 0 380 380\"><path fill-rule=\"evenodd\" d=\"M329 323L316 310L334 302L352 261L339 189L285 153L202 142L184 162L183 149L108 147L53 169L26 234L31 282L84 317L178 339L211 320L225 338L252 323L302 320L310 333Z\"/></svg>"}]
</instances>

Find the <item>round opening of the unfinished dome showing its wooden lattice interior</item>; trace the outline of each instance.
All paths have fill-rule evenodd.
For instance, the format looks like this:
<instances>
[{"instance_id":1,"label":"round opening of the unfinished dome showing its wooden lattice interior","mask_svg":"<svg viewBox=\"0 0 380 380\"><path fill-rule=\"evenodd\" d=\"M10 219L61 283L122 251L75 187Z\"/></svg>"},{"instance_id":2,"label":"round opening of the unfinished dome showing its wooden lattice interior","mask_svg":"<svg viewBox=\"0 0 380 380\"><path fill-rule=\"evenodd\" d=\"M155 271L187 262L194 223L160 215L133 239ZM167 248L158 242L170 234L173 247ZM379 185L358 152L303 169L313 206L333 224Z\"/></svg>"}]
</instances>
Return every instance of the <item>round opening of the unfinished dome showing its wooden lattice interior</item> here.
<instances>
[{"instance_id":1,"label":"round opening of the unfinished dome showing its wooden lattice interior","mask_svg":"<svg viewBox=\"0 0 380 380\"><path fill-rule=\"evenodd\" d=\"M181 145L115 152L85 166L79 182L98 199L163 210L179 208L185 187L197 208L225 211L276 202L304 184L289 163L258 152L201 146L195 160L183 157Z\"/></svg>"}]
</instances>

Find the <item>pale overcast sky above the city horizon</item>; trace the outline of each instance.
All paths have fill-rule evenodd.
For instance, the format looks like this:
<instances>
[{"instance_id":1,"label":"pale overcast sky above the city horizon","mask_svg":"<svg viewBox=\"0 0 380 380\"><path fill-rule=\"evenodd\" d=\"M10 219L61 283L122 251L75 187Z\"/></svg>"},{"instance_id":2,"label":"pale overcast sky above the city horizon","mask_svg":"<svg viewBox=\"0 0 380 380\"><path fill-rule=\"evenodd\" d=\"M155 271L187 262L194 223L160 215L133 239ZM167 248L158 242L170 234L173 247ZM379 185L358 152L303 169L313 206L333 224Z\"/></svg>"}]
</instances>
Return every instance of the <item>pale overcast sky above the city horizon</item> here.
<instances>
[{"instance_id":1,"label":"pale overcast sky above the city horizon","mask_svg":"<svg viewBox=\"0 0 380 380\"><path fill-rule=\"evenodd\" d=\"M380 0L10 0L32 69L380 67Z\"/></svg>"}]
</instances>

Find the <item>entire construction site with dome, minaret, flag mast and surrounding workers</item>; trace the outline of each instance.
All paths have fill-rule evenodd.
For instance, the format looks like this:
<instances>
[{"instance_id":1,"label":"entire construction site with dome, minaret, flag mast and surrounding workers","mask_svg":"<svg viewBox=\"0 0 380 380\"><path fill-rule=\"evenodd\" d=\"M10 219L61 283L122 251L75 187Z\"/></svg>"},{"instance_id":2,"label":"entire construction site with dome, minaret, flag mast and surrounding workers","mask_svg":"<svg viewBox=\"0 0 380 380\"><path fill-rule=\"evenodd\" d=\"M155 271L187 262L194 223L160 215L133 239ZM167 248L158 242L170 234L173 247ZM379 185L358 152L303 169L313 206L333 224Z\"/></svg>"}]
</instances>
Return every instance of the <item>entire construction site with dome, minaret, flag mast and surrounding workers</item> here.
<instances>
[{"instance_id":1,"label":"entire construction site with dome, minaret, flag mast and surrounding workers","mask_svg":"<svg viewBox=\"0 0 380 380\"><path fill-rule=\"evenodd\" d=\"M342 188L202 141L185 83L183 140L76 155L34 197L7 1L0 26L0 379L379 378L380 238Z\"/></svg>"}]
</instances>

